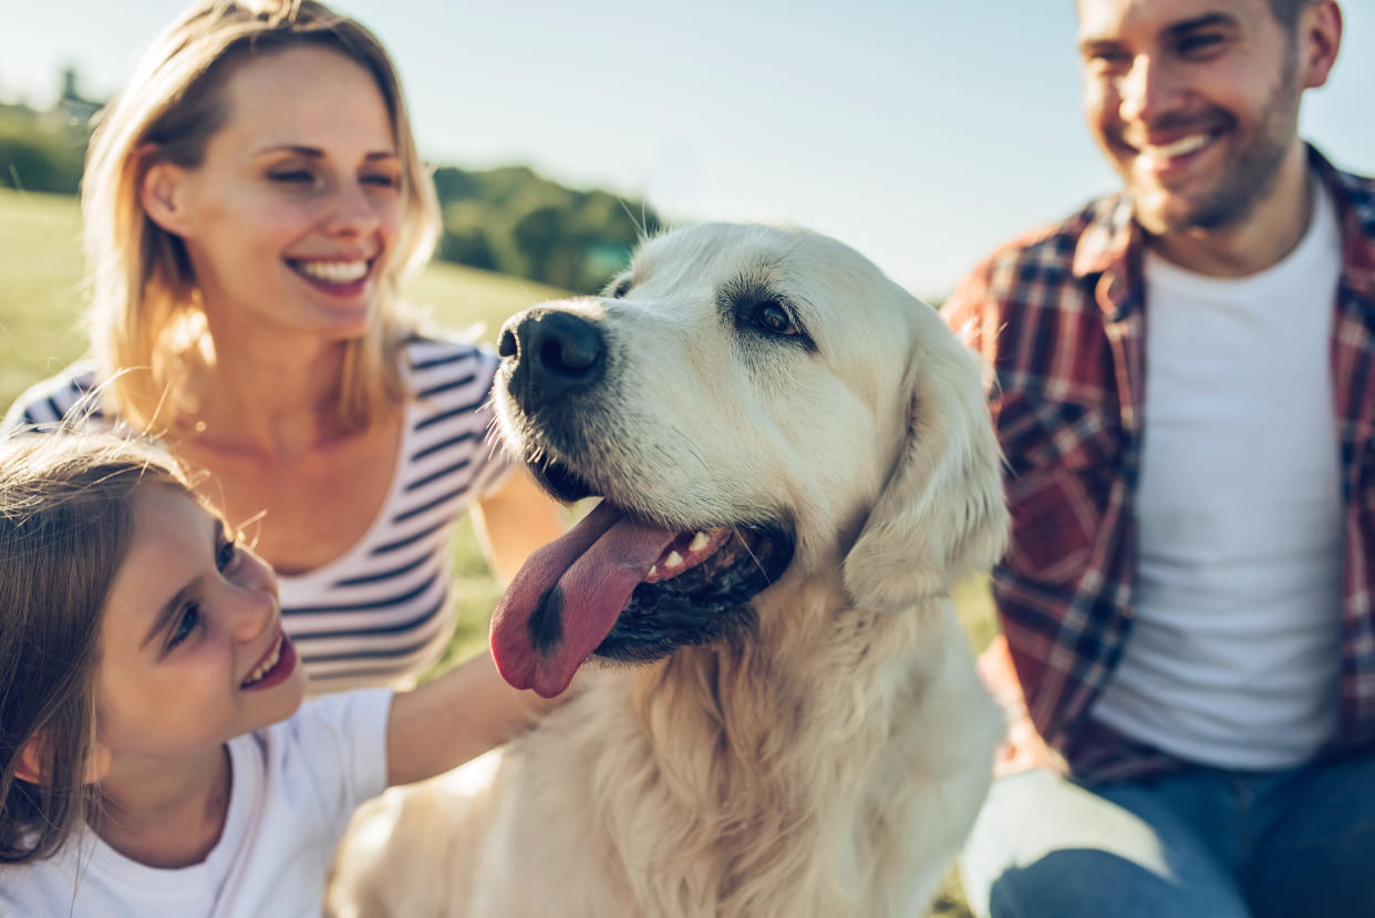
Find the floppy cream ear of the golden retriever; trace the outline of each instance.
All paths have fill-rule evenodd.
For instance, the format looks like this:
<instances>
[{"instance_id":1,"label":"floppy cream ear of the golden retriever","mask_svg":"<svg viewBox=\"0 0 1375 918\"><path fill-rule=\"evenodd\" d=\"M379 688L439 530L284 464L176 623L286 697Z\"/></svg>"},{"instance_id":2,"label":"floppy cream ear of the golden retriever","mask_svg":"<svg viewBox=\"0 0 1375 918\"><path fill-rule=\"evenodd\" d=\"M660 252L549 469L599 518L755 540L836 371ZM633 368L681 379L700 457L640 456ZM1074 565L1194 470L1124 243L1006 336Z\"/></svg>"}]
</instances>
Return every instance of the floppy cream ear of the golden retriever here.
<instances>
[{"instance_id":1,"label":"floppy cream ear of the golden retriever","mask_svg":"<svg viewBox=\"0 0 1375 918\"><path fill-rule=\"evenodd\" d=\"M1002 454L979 361L935 311L920 318L906 442L846 556L850 595L880 608L949 592L987 570L1008 533Z\"/></svg>"}]
</instances>

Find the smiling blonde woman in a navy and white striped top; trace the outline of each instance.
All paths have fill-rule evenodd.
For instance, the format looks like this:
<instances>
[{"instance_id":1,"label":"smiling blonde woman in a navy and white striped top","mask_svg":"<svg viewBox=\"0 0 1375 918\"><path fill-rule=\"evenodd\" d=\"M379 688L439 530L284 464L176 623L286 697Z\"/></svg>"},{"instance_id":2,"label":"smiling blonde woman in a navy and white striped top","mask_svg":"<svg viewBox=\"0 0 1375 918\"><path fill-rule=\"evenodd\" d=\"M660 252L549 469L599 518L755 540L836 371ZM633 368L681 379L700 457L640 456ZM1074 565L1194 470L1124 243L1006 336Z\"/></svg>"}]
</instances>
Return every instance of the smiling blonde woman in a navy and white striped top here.
<instances>
[{"instance_id":1,"label":"smiling blonde woman in a navy and white striped top","mask_svg":"<svg viewBox=\"0 0 1375 918\"><path fill-rule=\"evenodd\" d=\"M399 286L434 193L385 48L318 3L204 3L154 43L82 182L94 363L10 424L160 436L282 577L312 691L406 685L452 632L451 523L500 578L562 531L485 440L496 356Z\"/></svg>"}]
</instances>

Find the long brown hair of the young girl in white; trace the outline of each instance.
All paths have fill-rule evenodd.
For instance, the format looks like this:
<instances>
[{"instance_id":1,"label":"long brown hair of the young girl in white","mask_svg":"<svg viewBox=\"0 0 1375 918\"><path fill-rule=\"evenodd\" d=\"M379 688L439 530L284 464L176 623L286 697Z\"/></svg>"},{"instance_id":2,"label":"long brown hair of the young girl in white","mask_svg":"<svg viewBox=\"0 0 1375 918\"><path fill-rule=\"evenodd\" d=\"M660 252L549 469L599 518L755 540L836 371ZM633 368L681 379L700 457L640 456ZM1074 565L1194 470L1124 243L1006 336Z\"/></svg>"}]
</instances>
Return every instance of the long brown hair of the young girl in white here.
<instances>
[{"instance_id":1,"label":"long brown hair of the young girl in white","mask_svg":"<svg viewBox=\"0 0 1375 918\"><path fill-rule=\"evenodd\" d=\"M0 863L52 855L91 813L100 619L129 552L135 495L151 483L191 494L147 443L0 439ZM16 773L30 743L38 783Z\"/></svg>"}]
</instances>

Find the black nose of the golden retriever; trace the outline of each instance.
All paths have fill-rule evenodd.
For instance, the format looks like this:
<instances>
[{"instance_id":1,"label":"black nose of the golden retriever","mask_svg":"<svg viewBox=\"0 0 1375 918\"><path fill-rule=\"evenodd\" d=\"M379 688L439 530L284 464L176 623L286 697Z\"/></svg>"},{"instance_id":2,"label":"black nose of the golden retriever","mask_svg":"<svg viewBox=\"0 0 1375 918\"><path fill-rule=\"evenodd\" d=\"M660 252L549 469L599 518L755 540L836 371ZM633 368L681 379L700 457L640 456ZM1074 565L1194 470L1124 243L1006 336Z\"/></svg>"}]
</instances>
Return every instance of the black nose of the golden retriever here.
<instances>
[{"instance_id":1,"label":"black nose of the golden retriever","mask_svg":"<svg viewBox=\"0 0 1375 918\"><path fill-rule=\"evenodd\" d=\"M591 319L561 310L527 310L502 328L496 351L507 362L507 388L527 412L598 383L606 341Z\"/></svg>"}]
</instances>

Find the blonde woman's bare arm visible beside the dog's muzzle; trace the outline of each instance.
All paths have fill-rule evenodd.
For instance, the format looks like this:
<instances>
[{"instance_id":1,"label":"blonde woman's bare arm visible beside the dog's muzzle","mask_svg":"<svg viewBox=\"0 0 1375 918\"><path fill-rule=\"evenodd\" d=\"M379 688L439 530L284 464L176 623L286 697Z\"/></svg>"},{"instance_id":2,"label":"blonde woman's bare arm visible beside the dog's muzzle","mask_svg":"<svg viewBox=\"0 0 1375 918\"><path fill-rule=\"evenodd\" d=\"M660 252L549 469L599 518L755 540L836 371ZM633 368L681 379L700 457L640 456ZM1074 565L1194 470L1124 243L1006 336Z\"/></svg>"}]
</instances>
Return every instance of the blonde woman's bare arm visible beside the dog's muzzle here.
<instances>
[{"instance_id":1,"label":"blonde woman's bare arm visible beside the dog's muzzle","mask_svg":"<svg viewBox=\"0 0 1375 918\"><path fill-rule=\"evenodd\" d=\"M517 468L499 491L477 501L472 513L477 540L502 584L512 582L531 552L568 530L562 505L524 468Z\"/></svg>"}]
</instances>

